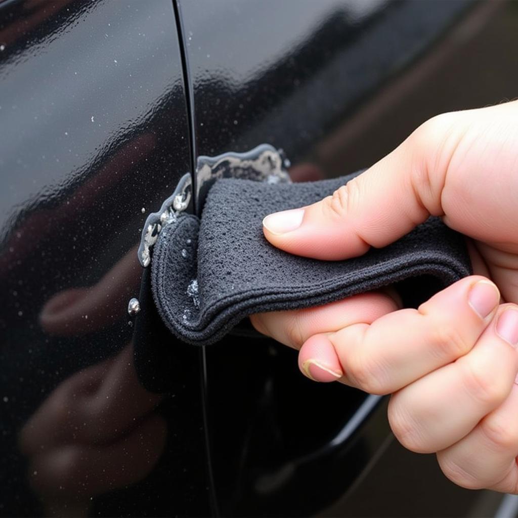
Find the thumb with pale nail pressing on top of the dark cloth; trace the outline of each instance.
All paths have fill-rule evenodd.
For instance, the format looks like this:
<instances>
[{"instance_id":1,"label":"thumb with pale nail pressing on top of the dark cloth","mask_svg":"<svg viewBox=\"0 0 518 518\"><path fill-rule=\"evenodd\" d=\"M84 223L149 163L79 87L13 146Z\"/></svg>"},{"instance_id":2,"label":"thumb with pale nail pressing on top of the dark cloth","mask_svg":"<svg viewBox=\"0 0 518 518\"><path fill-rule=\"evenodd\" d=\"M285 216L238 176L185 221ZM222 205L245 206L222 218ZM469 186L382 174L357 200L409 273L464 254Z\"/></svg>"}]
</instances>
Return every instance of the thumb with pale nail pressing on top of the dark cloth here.
<instances>
[{"instance_id":1,"label":"thumb with pale nail pressing on top of the dark cloth","mask_svg":"<svg viewBox=\"0 0 518 518\"><path fill-rule=\"evenodd\" d=\"M421 125L392 153L332 196L300 209L268 215L264 235L296 255L340 260L381 248L430 214L443 215L448 164L464 133L463 112Z\"/></svg>"}]
</instances>

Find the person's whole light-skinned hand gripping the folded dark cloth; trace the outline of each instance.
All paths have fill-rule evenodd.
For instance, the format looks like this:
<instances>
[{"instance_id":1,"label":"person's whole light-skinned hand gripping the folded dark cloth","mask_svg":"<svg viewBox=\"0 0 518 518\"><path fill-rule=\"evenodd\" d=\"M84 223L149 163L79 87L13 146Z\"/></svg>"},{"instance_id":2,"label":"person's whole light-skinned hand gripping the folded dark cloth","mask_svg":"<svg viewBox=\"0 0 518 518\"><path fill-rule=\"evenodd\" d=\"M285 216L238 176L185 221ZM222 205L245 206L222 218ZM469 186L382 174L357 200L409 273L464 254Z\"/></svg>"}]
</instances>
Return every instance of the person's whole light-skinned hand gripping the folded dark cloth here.
<instances>
[{"instance_id":1,"label":"person's whole light-skinned hand gripping the folded dark cloth","mask_svg":"<svg viewBox=\"0 0 518 518\"><path fill-rule=\"evenodd\" d=\"M517 102L434 117L332 196L264 220L274 246L342 260L436 215L466 236L476 275L418 309L399 309L389 291L251 317L260 332L300 349L306 376L391 394L397 439L436 453L453 482L515 494L517 121Z\"/></svg>"}]
</instances>

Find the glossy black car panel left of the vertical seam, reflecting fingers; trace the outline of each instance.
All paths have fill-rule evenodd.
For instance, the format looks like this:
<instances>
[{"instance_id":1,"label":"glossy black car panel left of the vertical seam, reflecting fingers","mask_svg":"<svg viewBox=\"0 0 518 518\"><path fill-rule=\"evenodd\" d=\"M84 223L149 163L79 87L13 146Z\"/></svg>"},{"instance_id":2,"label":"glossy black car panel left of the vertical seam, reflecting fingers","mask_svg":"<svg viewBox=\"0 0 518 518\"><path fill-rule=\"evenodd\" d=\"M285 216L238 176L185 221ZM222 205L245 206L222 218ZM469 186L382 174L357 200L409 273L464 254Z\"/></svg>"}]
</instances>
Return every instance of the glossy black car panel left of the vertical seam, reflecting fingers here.
<instances>
[{"instance_id":1,"label":"glossy black car panel left of the vertical seam, reflecting fingers","mask_svg":"<svg viewBox=\"0 0 518 518\"><path fill-rule=\"evenodd\" d=\"M173 6L2 3L0 44L0 510L207 514L199 354L147 392L126 312L191 169Z\"/></svg>"}]
</instances>

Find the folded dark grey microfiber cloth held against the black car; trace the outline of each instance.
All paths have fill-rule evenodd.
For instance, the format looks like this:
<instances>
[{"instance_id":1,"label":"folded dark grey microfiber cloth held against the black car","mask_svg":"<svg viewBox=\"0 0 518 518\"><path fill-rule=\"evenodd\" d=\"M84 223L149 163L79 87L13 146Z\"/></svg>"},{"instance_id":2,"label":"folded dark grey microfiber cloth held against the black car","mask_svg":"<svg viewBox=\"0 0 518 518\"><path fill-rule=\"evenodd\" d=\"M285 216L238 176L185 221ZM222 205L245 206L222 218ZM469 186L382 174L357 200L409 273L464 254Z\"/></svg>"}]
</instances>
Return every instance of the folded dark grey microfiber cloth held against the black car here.
<instances>
[{"instance_id":1,"label":"folded dark grey microfiber cloth held against the black car","mask_svg":"<svg viewBox=\"0 0 518 518\"><path fill-rule=\"evenodd\" d=\"M202 218L181 213L154 245L153 297L171 332L203 346L252 313L318 306L411 278L414 293L424 295L420 282L429 284L430 276L437 292L470 275L464 237L438 218L390 246L344 261L291 255L264 238L267 214L314 203L353 176L285 184L216 181Z\"/></svg>"}]
</instances>

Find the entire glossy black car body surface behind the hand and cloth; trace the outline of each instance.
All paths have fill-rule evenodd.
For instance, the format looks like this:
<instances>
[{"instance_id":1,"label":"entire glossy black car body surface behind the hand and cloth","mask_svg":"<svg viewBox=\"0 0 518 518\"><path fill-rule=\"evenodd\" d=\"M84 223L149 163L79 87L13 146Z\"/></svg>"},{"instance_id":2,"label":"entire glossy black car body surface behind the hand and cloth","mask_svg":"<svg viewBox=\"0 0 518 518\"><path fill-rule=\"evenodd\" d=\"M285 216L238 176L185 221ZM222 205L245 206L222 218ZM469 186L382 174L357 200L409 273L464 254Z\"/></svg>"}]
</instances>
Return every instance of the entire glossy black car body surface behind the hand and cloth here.
<instances>
[{"instance_id":1,"label":"entire glossy black car body surface behind the hand and cloth","mask_svg":"<svg viewBox=\"0 0 518 518\"><path fill-rule=\"evenodd\" d=\"M383 402L341 434L366 396L294 351L175 342L136 246L199 154L270 142L318 179L515 97L515 5L0 2L0 514L491 514Z\"/></svg>"}]
</instances>

